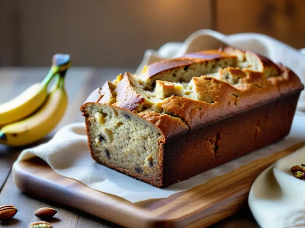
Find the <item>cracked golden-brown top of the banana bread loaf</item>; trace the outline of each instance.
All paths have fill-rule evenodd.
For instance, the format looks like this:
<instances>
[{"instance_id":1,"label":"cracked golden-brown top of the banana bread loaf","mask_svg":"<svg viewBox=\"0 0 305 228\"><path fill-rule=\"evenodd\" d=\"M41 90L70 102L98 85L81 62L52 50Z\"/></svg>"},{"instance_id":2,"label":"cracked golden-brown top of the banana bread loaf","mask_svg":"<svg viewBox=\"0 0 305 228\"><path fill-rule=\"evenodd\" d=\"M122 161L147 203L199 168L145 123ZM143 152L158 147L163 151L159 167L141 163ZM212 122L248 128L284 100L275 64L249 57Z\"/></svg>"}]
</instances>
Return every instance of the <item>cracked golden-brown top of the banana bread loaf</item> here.
<instances>
[{"instance_id":1,"label":"cracked golden-brown top of the banana bread loaf","mask_svg":"<svg viewBox=\"0 0 305 228\"><path fill-rule=\"evenodd\" d=\"M87 103L126 109L157 126L165 139L303 90L282 64L234 47L186 54L107 81Z\"/></svg>"}]
</instances>

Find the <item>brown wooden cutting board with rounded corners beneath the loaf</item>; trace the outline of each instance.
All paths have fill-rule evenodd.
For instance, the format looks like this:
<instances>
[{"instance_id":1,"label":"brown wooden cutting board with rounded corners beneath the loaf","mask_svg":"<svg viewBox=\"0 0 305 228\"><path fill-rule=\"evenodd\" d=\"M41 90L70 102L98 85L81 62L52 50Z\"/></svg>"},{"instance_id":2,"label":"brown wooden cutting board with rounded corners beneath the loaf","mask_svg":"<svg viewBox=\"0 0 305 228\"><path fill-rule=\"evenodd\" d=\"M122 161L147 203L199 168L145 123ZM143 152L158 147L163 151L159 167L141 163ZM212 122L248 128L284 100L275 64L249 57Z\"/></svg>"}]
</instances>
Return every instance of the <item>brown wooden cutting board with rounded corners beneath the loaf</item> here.
<instances>
[{"instance_id":1,"label":"brown wooden cutting board with rounded corners beneath the loaf","mask_svg":"<svg viewBox=\"0 0 305 228\"><path fill-rule=\"evenodd\" d=\"M60 202L121 226L206 227L237 212L247 203L250 187L257 176L278 159L303 146L305 141L186 192L139 203L131 203L63 177L38 158L15 162L13 178L23 192Z\"/></svg>"}]
</instances>

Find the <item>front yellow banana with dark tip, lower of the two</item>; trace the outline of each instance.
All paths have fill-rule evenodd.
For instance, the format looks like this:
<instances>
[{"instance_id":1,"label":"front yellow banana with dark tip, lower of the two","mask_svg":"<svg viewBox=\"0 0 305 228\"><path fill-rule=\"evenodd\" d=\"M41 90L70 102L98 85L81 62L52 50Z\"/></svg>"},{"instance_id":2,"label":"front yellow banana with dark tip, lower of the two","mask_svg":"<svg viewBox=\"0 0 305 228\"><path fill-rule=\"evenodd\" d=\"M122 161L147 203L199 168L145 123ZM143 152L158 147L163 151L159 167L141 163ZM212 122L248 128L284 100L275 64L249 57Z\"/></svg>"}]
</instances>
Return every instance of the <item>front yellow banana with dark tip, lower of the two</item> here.
<instances>
[{"instance_id":1,"label":"front yellow banana with dark tip, lower of the two","mask_svg":"<svg viewBox=\"0 0 305 228\"><path fill-rule=\"evenodd\" d=\"M64 76L58 75L55 86L37 112L0 130L0 144L18 147L40 140L57 126L66 112L67 104Z\"/></svg>"}]
</instances>

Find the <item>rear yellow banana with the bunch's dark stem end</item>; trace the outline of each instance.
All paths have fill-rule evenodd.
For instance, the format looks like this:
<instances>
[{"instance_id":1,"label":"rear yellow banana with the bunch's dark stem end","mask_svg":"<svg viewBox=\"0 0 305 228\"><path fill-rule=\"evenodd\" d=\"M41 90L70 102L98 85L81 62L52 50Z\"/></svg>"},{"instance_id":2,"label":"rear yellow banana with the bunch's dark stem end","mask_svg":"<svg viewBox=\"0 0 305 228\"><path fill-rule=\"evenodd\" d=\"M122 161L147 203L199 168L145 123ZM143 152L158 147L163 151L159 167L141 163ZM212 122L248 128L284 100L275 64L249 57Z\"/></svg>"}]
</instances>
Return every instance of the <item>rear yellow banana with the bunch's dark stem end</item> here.
<instances>
[{"instance_id":1,"label":"rear yellow banana with the bunch's dark stem end","mask_svg":"<svg viewBox=\"0 0 305 228\"><path fill-rule=\"evenodd\" d=\"M1 126L24 119L37 111L47 98L47 87L54 75L69 67L69 55L54 55L50 71L42 82L31 85L17 97L0 105L0 129Z\"/></svg>"}]
</instances>

